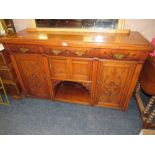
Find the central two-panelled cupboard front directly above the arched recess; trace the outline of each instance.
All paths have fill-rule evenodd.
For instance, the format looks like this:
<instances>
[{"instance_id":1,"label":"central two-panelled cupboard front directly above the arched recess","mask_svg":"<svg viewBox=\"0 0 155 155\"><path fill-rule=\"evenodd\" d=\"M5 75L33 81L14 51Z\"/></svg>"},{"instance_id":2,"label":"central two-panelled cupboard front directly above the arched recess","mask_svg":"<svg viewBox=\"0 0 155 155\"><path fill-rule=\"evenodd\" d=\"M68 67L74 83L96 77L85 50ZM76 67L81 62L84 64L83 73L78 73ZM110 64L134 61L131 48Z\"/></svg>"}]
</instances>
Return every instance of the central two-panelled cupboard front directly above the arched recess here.
<instances>
[{"instance_id":1,"label":"central two-panelled cupboard front directly above the arched recess","mask_svg":"<svg viewBox=\"0 0 155 155\"><path fill-rule=\"evenodd\" d=\"M49 63L52 79L91 81L91 59L50 57Z\"/></svg>"}]
</instances>

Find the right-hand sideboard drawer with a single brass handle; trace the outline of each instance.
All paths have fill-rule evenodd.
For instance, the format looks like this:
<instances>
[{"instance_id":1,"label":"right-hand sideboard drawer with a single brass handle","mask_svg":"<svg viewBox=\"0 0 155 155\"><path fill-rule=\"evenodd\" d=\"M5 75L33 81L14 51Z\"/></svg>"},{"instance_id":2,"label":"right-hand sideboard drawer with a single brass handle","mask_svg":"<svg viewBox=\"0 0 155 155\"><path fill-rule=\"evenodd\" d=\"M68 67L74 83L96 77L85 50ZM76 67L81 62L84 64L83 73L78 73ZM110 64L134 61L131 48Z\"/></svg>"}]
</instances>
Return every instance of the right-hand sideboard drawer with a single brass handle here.
<instances>
[{"instance_id":1,"label":"right-hand sideboard drawer with a single brass handle","mask_svg":"<svg viewBox=\"0 0 155 155\"><path fill-rule=\"evenodd\" d=\"M95 49L93 57L112 60L129 60L129 61L144 61L147 56L146 52L142 51L127 51L127 50L112 50L112 49Z\"/></svg>"}]
</instances>

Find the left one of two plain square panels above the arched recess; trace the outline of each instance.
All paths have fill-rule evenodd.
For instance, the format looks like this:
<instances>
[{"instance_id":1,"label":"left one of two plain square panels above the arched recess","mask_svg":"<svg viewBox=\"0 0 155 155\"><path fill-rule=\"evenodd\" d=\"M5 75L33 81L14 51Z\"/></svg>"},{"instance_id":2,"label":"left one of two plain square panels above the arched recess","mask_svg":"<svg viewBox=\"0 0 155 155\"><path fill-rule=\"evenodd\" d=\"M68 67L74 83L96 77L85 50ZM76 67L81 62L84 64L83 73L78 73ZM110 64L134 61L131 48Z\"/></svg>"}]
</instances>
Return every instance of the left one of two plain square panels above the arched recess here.
<instances>
[{"instance_id":1,"label":"left one of two plain square panels above the arched recess","mask_svg":"<svg viewBox=\"0 0 155 155\"><path fill-rule=\"evenodd\" d=\"M50 73L53 79L68 78L68 61L67 58L50 58Z\"/></svg>"}]
</instances>

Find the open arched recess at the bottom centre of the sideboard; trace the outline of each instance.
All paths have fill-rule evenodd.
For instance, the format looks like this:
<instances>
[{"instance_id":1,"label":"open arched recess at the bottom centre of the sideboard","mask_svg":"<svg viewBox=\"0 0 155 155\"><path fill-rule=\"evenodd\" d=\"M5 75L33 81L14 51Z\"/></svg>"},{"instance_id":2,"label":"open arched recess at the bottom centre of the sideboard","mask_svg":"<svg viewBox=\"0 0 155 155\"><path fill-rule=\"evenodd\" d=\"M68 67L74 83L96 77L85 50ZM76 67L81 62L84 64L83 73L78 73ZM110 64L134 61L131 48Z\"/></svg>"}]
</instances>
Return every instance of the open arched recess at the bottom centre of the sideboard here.
<instances>
[{"instance_id":1,"label":"open arched recess at the bottom centre of the sideboard","mask_svg":"<svg viewBox=\"0 0 155 155\"><path fill-rule=\"evenodd\" d=\"M87 84L60 81L54 86L54 94L55 100L90 104L91 94Z\"/></svg>"}]
</instances>

